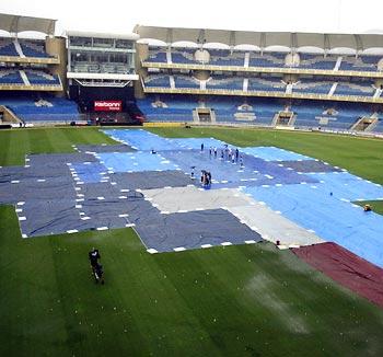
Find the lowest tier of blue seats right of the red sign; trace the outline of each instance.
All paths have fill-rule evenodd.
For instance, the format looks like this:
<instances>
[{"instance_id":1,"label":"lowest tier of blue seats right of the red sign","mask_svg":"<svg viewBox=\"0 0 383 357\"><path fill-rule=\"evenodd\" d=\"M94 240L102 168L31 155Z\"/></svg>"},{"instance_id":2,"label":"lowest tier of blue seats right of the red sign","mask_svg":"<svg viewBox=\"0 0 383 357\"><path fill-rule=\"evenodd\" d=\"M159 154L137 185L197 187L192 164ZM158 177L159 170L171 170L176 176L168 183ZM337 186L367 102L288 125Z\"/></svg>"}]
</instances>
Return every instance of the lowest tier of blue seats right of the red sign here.
<instances>
[{"instance_id":1,"label":"lowest tier of blue seats right of the red sign","mask_svg":"<svg viewBox=\"0 0 383 357\"><path fill-rule=\"evenodd\" d=\"M293 101L287 105L281 100L214 95L204 100L194 95L147 95L137 100L137 104L149 122L193 122L195 110L210 108L218 124L272 126L276 115L288 111L294 115L295 128L328 130L350 130L359 118L371 117L374 113L369 105L357 103ZM382 113L379 115L383 117ZM382 119L374 131L383 131Z\"/></svg>"}]
</instances>

